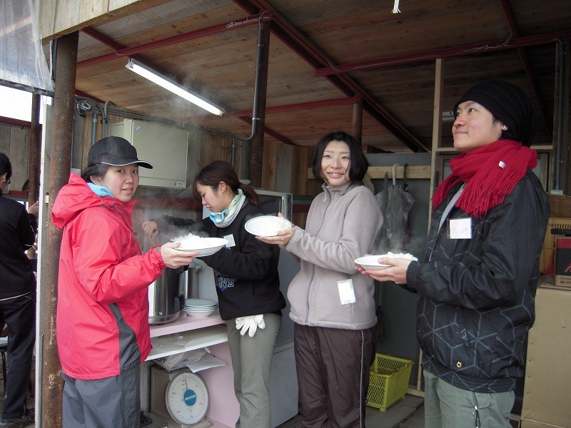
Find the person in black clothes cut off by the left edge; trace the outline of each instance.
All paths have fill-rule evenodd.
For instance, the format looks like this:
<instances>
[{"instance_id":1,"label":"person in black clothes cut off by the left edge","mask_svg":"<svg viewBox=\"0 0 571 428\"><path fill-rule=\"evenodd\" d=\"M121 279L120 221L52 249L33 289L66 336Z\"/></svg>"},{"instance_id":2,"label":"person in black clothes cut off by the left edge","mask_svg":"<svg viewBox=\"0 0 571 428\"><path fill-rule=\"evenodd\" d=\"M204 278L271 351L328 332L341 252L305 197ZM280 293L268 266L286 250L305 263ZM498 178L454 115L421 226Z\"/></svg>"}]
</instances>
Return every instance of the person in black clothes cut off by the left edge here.
<instances>
[{"instance_id":1,"label":"person in black clothes cut off by the left edge","mask_svg":"<svg viewBox=\"0 0 571 428\"><path fill-rule=\"evenodd\" d=\"M36 240L39 204L26 212L24 205L3 196L11 175L10 159L0 153L0 320L9 329L9 370L0 427L34 422L34 414L26 409L26 395L36 342L36 277L24 251Z\"/></svg>"}]
</instances>

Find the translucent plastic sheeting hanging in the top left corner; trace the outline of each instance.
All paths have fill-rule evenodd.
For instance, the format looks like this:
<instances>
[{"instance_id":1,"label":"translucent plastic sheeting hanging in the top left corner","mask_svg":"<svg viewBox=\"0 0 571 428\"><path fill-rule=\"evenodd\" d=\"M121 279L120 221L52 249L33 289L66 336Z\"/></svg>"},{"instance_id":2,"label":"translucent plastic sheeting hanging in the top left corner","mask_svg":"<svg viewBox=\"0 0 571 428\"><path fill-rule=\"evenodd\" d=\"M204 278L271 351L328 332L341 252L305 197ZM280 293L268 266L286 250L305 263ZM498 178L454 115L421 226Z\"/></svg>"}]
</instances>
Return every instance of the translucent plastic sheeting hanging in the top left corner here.
<instances>
[{"instance_id":1,"label":"translucent plastic sheeting hanging in the top left corner","mask_svg":"<svg viewBox=\"0 0 571 428\"><path fill-rule=\"evenodd\" d=\"M0 1L0 84L36 93L54 91L41 47L39 0Z\"/></svg>"}]
</instances>

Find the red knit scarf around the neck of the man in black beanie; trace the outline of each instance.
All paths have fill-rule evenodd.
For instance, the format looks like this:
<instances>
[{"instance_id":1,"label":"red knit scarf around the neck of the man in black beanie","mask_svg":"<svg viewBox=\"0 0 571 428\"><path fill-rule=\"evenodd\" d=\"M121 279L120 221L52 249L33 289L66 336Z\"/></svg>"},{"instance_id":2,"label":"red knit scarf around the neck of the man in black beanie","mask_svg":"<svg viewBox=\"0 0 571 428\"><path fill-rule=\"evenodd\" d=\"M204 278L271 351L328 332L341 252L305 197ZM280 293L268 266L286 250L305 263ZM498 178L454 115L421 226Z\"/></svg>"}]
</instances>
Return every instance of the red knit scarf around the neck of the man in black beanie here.
<instances>
[{"instance_id":1,"label":"red knit scarf around the neck of the man in black beanie","mask_svg":"<svg viewBox=\"0 0 571 428\"><path fill-rule=\"evenodd\" d=\"M503 165L503 168L502 166ZM476 218L499 205L526 170L537 165L537 153L517 141L500 140L450 160L452 173L433 195L433 209L458 182L466 183L455 206Z\"/></svg>"}]
</instances>

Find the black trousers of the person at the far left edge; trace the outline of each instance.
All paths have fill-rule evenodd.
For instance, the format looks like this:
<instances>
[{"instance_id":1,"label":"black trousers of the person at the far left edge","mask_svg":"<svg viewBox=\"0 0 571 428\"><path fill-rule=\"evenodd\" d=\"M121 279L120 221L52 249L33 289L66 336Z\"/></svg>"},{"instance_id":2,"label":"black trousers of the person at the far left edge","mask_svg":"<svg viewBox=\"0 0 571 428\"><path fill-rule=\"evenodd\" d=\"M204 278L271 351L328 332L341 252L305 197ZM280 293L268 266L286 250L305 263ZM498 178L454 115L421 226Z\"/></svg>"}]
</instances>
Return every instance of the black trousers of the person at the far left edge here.
<instances>
[{"instance_id":1,"label":"black trousers of the person at the far left edge","mask_svg":"<svg viewBox=\"0 0 571 428\"><path fill-rule=\"evenodd\" d=\"M36 294L0 301L0 320L8 325L8 373L2 419L21 417L26 411L31 360L36 343ZM1 327L0 327L1 328Z\"/></svg>"}]
</instances>

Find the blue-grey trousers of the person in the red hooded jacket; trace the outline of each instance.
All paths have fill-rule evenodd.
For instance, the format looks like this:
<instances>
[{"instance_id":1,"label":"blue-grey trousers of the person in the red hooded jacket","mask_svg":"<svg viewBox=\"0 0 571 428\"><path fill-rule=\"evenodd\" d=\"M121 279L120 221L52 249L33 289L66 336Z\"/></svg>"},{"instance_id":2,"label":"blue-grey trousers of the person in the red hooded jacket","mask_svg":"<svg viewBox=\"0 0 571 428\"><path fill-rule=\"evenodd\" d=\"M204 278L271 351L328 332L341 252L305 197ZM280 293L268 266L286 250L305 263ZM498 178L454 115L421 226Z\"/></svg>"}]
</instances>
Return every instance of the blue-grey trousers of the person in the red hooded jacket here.
<instances>
[{"instance_id":1,"label":"blue-grey trousers of the person in the red hooded jacket","mask_svg":"<svg viewBox=\"0 0 571 428\"><path fill-rule=\"evenodd\" d=\"M141 366L118 376L79 380L63 372L63 428L141 427Z\"/></svg>"}]
</instances>

